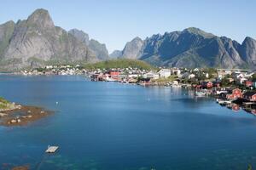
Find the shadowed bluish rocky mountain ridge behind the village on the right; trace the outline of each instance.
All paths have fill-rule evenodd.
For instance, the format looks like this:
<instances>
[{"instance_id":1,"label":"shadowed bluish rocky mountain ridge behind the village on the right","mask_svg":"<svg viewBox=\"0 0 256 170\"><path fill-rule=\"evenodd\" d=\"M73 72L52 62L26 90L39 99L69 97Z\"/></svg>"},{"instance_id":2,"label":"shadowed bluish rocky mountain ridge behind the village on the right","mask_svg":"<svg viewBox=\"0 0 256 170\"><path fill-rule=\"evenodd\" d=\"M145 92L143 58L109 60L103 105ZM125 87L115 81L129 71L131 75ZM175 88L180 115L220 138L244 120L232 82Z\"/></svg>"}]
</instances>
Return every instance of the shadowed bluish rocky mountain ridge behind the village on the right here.
<instances>
[{"instance_id":1,"label":"shadowed bluish rocky mountain ridge behind the village on the right","mask_svg":"<svg viewBox=\"0 0 256 170\"><path fill-rule=\"evenodd\" d=\"M255 40L247 37L239 44L198 28L153 35L137 48L137 59L153 65L177 67L255 68ZM134 57L134 54L126 54Z\"/></svg>"}]
</instances>

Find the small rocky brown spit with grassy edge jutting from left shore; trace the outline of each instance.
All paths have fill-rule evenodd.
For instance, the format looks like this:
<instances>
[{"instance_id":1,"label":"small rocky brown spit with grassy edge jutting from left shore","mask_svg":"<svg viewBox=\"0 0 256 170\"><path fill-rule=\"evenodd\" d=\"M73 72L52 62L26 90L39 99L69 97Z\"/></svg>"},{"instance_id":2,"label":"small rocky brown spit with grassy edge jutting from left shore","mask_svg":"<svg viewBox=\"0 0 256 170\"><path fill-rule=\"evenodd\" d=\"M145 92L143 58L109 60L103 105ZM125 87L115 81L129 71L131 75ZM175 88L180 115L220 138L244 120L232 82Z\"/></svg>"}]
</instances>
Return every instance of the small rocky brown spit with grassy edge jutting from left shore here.
<instances>
[{"instance_id":1,"label":"small rocky brown spit with grassy edge jutting from left shore","mask_svg":"<svg viewBox=\"0 0 256 170\"><path fill-rule=\"evenodd\" d=\"M17 105L0 97L0 125L2 126L26 125L52 113L37 106Z\"/></svg>"}]
</instances>

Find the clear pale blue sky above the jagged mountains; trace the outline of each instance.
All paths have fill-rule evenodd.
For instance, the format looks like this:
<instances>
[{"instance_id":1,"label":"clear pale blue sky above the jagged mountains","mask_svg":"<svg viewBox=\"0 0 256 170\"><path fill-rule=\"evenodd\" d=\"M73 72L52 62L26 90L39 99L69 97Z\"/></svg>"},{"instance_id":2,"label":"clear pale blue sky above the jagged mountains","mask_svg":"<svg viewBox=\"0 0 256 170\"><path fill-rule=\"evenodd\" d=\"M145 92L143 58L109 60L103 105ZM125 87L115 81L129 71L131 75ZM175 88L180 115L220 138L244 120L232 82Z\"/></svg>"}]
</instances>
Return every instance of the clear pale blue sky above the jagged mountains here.
<instances>
[{"instance_id":1,"label":"clear pale blue sky above the jagged mountains","mask_svg":"<svg viewBox=\"0 0 256 170\"><path fill-rule=\"evenodd\" d=\"M37 8L47 9L55 26L105 43L110 53L134 37L191 26L237 42L256 39L254 0L4 0L0 23L25 20Z\"/></svg>"}]
</instances>

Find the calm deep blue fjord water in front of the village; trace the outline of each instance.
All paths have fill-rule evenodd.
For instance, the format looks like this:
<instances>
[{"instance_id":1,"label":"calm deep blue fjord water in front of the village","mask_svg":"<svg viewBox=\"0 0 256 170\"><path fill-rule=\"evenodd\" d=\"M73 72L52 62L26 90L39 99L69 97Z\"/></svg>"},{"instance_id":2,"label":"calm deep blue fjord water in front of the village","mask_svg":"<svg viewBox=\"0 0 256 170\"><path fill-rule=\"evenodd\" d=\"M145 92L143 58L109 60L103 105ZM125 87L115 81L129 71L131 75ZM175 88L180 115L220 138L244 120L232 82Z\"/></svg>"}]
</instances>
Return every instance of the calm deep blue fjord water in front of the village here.
<instances>
[{"instance_id":1,"label":"calm deep blue fjord water in front of the village","mask_svg":"<svg viewBox=\"0 0 256 170\"><path fill-rule=\"evenodd\" d=\"M0 76L0 96L55 111L25 127L0 127L0 169L256 166L256 116L190 93L80 76ZM48 144L60 150L46 155Z\"/></svg>"}]
</instances>

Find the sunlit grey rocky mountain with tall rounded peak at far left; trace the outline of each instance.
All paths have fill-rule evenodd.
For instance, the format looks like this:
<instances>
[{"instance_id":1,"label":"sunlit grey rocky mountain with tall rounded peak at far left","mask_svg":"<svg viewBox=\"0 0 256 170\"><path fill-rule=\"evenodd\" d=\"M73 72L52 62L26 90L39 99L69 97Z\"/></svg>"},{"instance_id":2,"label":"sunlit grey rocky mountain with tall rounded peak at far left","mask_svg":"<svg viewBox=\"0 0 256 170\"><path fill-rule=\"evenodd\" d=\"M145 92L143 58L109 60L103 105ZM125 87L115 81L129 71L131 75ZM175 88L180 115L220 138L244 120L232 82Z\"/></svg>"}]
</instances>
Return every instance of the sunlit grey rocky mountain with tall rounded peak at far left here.
<instances>
[{"instance_id":1,"label":"sunlit grey rocky mountain with tall rounded peak at far left","mask_svg":"<svg viewBox=\"0 0 256 170\"><path fill-rule=\"evenodd\" d=\"M44 65L45 62L61 64L96 60L84 42L55 26L44 9L37 9L27 20L19 20L6 39L9 43L2 50L2 69L15 70Z\"/></svg>"}]
</instances>

